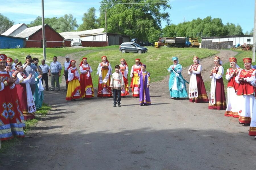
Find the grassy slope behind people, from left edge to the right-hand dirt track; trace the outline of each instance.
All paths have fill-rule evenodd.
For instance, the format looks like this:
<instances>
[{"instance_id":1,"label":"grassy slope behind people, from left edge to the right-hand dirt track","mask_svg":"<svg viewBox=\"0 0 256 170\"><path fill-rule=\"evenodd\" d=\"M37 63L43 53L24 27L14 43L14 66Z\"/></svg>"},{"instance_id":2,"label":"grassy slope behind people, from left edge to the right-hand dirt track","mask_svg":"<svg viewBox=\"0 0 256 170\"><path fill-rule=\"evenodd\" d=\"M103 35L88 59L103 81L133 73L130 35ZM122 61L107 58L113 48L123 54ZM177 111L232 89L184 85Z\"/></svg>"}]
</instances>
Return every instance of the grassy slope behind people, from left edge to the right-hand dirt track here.
<instances>
[{"instance_id":1,"label":"grassy slope behind people, from left edge to the right-hand dirt track","mask_svg":"<svg viewBox=\"0 0 256 170\"><path fill-rule=\"evenodd\" d=\"M120 64L120 59L124 58L129 65L135 64L135 59L140 58L141 62L147 65L147 71L151 74L151 81L162 80L166 75L168 75L167 68L172 64L171 58L177 56L179 58L179 63L183 67L191 65L192 57L198 56L203 59L208 56L217 54L216 50L208 50L203 48L154 48L148 47L148 52L144 54L137 53L121 53L119 52L119 46L107 46L107 47L86 47L86 48L46 48L46 57L48 61L52 61L53 56L62 56L64 57L67 54L88 51L89 54L85 56L76 56L88 58L88 63L93 69L92 79L94 87L98 86L98 75L96 75L98 64L101 61L102 56L107 56L110 61L112 68L117 64ZM31 55L33 57L38 57L39 60L43 59L42 48L20 48L20 49L1 49L0 54L6 54L12 58L18 58L20 61L25 61L26 55ZM79 55L79 54L77 54ZM71 58L72 59L72 58ZM77 68L80 63L77 61ZM49 63L48 63L49 64ZM130 82L130 78L129 78Z\"/></svg>"}]
</instances>

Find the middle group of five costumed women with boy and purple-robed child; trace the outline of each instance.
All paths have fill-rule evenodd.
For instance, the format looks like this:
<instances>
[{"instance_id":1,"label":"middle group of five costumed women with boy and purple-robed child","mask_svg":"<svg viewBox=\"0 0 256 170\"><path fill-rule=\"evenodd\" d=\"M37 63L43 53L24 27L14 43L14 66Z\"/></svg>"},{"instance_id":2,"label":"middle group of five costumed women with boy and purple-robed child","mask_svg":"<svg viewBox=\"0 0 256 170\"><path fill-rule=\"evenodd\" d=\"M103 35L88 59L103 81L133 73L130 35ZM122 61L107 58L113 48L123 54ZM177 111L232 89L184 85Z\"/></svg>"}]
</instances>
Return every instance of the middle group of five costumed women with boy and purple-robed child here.
<instances>
[{"instance_id":1,"label":"middle group of five costumed women with boy and purple-robed child","mask_svg":"<svg viewBox=\"0 0 256 170\"><path fill-rule=\"evenodd\" d=\"M121 107L121 97L129 95L128 84L128 64L125 59L120 59L120 64L115 65L115 72L112 74L112 66L106 56L102 56L102 62L99 63L97 68L98 78L98 94L97 97L107 98L112 97L114 107L118 105ZM92 85L92 68L87 63L87 58L82 58L79 65L80 76L77 68L75 67L76 61L71 60L68 67L68 89L66 100L76 101L79 98L94 97L94 88ZM140 62L140 59L135 59L135 65L132 66L130 88L133 97L140 98L140 105L150 105L150 73L146 71L146 65Z\"/></svg>"}]
</instances>

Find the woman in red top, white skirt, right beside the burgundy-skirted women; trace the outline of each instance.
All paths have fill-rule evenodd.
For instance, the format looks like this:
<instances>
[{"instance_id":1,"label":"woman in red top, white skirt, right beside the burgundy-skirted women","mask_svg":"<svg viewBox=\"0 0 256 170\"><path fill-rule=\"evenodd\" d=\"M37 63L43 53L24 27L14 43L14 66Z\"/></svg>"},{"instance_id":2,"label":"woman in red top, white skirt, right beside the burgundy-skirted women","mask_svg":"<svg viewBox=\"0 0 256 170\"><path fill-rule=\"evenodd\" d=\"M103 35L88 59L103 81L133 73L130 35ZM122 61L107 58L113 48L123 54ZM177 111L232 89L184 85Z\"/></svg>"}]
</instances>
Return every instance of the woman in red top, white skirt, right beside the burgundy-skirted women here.
<instances>
[{"instance_id":1,"label":"woman in red top, white skirt, right beside the burgundy-skirted women","mask_svg":"<svg viewBox=\"0 0 256 170\"><path fill-rule=\"evenodd\" d=\"M228 103L227 103L227 109L225 112L225 116L233 116L234 118L238 118L238 96L236 95L236 92L238 90L239 84L236 82L235 78L238 75L238 72L241 70L241 68L236 64L237 59L234 57L229 58L230 61L230 68L227 69L226 73L226 79L228 80Z\"/></svg>"}]
</instances>

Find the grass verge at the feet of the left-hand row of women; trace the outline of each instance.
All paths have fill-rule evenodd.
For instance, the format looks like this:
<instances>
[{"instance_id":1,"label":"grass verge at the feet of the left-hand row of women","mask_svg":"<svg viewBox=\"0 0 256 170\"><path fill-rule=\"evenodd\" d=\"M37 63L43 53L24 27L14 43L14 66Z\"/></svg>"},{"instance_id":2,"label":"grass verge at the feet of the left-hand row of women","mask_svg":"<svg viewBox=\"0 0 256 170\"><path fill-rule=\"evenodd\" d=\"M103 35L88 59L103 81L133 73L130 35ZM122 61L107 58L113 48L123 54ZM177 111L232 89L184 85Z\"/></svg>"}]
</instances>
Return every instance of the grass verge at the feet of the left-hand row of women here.
<instances>
[{"instance_id":1,"label":"grass verge at the feet of the left-hand row of women","mask_svg":"<svg viewBox=\"0 0 256 170\"><path fill-rule=\"evenodd\" d=\"M26 133L28 133L28 131L32 127L36 126L36 124L38 123L38 118L40 118L41 116L46 116L49 110L51 110L51 107L43 103L42 108L36 111L36 118L25 121L25 124L26 124L26 129L24 129L25 135ZM14 137L13 139L10 139L8 141L1 141L2 149L0 149L0 153L5 153L7 152L7 150L9 152L10 148L13 148L15 145L18 145L20 143L21 143L21 140L20 138L17 138L17 137Z\"/></svg>"}]
</instances>

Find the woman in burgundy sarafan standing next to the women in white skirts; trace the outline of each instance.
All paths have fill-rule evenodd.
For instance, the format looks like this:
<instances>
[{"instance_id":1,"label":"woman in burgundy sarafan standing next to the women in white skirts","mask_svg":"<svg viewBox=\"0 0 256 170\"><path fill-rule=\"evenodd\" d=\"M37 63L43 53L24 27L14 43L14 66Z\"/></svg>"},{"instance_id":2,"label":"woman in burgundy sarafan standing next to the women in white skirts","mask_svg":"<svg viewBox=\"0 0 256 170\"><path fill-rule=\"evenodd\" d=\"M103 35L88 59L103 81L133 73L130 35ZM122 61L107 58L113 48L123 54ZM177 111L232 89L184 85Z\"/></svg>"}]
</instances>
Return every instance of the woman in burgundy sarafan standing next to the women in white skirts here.
<instances>
[{"instance_id":1,"label":"woman in burgundy sarafan standing next to the women in white skirts","mask_svg":"<svg viewBox=\"0 0 256 170\"><path fill-rule=\"evenodd\" d=\"M221 66L222 61L218 56L214 57L214 67L210 73L211 92L208 109L226 110L226 97L223 84L223 72L224 69Z\"/></svg>"}]
</instances>

